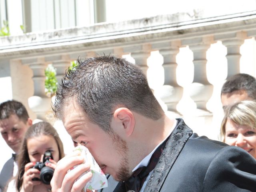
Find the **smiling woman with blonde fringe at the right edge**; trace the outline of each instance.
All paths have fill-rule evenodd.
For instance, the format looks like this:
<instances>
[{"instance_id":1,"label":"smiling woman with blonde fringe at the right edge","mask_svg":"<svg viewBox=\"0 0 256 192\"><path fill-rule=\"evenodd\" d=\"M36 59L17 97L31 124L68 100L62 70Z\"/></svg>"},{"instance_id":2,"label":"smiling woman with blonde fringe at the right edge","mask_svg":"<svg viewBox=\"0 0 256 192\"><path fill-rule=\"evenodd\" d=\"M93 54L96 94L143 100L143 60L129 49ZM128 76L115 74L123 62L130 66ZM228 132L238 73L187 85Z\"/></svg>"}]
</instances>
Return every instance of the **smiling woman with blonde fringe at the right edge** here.
<instances>
[{"instance_id":1,"label":"smiling woman with blonde fringe at the right edge","mask_svg":"<svg viewBox=\"0 0 256 192\"><path fill-rule=\"evenodd\" d=\"M223 142L238 146L256 158L256 101L242 101L230 106L222 120Z\"/></svg>"}]
</instances>

